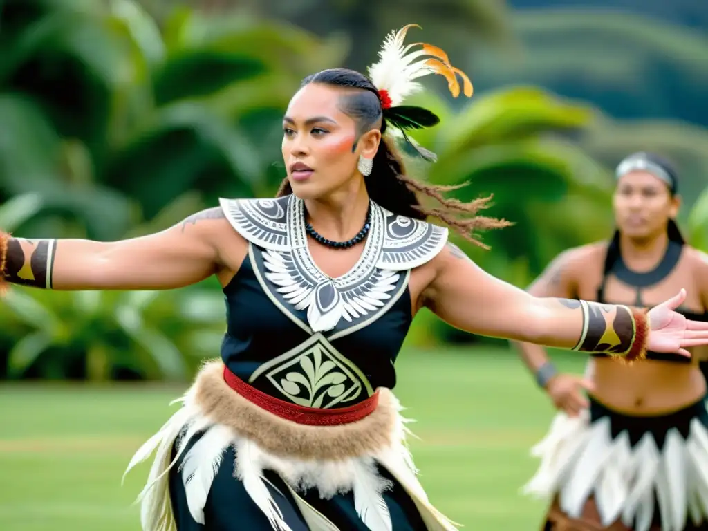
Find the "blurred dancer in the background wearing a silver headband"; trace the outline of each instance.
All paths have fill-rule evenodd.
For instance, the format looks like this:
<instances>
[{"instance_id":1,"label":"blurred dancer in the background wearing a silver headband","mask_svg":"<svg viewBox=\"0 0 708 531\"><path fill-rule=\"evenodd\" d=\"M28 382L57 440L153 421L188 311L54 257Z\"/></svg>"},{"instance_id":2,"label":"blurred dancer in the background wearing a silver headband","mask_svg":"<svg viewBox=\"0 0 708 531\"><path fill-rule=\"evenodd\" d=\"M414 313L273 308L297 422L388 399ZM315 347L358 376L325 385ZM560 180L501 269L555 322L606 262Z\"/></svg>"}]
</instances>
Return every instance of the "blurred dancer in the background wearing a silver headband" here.
<instances>
[{"instance_id":1,"label":"blurred dancer in the background wearing a silver headband","mask_svg":"<svg viewBox=\"0 0 708 531\"><path fill-rule=\"evenodd\" d=\"M616 174L610 244L562 253L530 293L646 307L685 286L691 295L677 312L708 321L708 260L685 244L674 221L675 171L637 153ZM557 375L543 348L520 348L563 410L533 450L542 463L526 486L555 496L545 530L571 523L578 530L708 530L708 413L698 348L692 359L650 352L631 366L593 354L583 381Z\"/></svg>"}]
</instances>

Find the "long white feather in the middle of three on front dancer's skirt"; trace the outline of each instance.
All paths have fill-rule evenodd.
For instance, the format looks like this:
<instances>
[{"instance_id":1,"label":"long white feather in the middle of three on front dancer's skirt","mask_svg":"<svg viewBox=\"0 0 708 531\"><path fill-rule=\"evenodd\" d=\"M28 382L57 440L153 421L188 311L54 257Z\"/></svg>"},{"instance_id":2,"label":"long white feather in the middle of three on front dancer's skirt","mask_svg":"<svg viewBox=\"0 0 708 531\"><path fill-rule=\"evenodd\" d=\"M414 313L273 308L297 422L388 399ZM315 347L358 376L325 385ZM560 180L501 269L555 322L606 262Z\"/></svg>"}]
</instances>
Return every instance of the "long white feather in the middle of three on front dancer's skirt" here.
<instances>
[{"instance_id":1,"label":"long white feather in the middle of three on front dancer's skirt","mask_svg":"<svg viewBox=\"0 0 708 531\"><path fill-rule=\"evenodd\" d=\"M236 477L244 484L244 489L251 496L253 503L263 511L273 529L292 531L285 523L278 504L265 486L263 477L263 459L256 443L247 439L236 442Z\"/></svg>"}]
</instances>

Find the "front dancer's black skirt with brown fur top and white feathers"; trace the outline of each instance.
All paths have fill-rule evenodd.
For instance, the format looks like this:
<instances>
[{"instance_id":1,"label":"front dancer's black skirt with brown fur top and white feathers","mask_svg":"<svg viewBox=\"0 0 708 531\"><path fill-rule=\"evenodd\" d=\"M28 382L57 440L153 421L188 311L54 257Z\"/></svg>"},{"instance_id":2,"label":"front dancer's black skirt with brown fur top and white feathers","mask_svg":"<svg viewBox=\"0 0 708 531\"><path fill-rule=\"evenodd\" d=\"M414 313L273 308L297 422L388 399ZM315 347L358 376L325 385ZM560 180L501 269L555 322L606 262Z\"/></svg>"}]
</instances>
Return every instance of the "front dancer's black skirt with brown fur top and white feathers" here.
<instances>
[{"instance_id":1,"label":"front dancer's black skirt with brown fur top and white feathers","mask_svg":"<svg viewBox=\"0 0 708 531\"><path fill-rule=\"evenodd\" d=\"M156 451L142 493L144 531L448 531L406 447L406 420L388 389L358 421L307 426L253 403L202 368L182 406L140 447Z\"/></svg>"}]
</instances>

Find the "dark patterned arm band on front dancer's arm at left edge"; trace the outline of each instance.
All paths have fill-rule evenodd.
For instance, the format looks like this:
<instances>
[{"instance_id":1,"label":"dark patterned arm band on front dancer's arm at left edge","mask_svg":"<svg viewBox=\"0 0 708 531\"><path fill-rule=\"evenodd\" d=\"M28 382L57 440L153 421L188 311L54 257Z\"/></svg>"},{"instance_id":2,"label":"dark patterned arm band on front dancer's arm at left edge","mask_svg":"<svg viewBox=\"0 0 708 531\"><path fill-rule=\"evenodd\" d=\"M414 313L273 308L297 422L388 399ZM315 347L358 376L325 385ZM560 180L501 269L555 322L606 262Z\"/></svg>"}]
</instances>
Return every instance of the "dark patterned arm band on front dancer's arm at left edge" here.
<instances>
[{"instance_id":1,"label":"dark patterned arm band on front dancer's arm at left edge","mask_svg":"<svg viewBox=\"0 0 708 531\"><path fill-rule=\"evenodd\" d=\"M0 236L2 280L11 284L51 290L56 250L56 239L19 239L9 234L2 234Z\"/></svg>"}]
</instances>

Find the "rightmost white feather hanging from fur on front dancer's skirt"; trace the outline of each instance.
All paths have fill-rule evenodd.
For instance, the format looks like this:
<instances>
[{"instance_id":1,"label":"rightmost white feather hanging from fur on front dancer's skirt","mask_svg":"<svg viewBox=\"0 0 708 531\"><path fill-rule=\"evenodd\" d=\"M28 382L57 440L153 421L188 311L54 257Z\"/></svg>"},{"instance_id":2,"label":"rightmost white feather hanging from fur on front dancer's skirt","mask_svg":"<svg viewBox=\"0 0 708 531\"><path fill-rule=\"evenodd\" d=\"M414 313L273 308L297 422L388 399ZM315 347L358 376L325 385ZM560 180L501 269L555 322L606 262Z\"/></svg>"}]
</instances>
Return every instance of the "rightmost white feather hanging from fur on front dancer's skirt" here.
<instances>
[{"instance_id":1,"label":"rightmost white feather hanging from fur on front dancer's skirt","mask_svg":"<svg viewBox=\"0 0 708 531\"><path fill-rule=\"evenodd\" d=\"M391 482L377 474L373 459L355 461L353 473L354 508L361 521L371 531L392 531L391 514L382 496Z\"/></svg>"}]
</instances>

